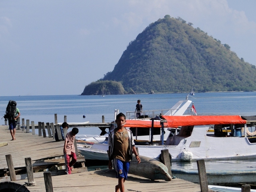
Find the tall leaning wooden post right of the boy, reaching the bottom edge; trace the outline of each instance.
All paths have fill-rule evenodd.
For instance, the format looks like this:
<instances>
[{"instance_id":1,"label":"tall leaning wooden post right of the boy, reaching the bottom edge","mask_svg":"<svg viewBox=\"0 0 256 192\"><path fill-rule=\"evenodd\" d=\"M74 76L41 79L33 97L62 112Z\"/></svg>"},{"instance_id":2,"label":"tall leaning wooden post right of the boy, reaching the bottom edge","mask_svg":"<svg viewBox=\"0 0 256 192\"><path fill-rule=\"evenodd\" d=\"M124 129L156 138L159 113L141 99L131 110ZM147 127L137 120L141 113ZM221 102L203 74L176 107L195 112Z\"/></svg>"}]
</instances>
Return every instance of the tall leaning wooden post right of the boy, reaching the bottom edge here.
<instances>
[{"instance_id":1,"label":"tall leaning wooden post right of the boy, reaching the bottom edge","mask_svg":"<svg viewBox=\"0 0 256 192\"><path fill-rule=\"evenodd\" d=\"M204 160L197 160L196 164L198 169L201 192L208 192L208 181L206 176Z\"/></svg>"}]
</instances>

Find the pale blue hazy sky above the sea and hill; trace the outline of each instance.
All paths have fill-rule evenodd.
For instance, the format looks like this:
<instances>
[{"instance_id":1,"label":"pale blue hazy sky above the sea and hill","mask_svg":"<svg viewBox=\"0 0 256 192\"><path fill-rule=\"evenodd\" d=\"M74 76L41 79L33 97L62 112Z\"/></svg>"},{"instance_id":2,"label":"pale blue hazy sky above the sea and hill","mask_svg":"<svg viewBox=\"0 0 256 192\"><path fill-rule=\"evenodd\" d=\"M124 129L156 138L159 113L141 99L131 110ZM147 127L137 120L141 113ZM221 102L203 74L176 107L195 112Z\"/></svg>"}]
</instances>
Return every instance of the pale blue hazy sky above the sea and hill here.
<instances>
[{"instance_id":1,"label":"pale blue hazy sky above the sea and hill","mask_svg":"<svg viewBox=\"0 0 256 192\"><path fill-rule=\"evenodd\" d=\"M255 9L256 0L1 0L0 96L79 95L165 15L256 65Z\"/></svg>"}]
</instances>

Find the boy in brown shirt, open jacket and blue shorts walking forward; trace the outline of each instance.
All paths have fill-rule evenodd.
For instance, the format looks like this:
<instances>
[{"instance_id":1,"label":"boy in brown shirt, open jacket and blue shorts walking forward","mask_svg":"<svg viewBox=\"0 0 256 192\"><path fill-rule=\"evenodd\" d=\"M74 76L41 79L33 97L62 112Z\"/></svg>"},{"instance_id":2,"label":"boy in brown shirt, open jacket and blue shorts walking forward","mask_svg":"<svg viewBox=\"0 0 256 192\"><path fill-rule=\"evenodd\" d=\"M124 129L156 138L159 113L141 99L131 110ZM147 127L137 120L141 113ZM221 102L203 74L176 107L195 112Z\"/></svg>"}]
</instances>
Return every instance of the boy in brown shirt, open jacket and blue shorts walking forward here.
<instances>
[{"instance_id":1,"label":"boy in brown shirt, open jacket and blue shorts walking forward","mask_svg":"<svg viewBox=\"0 0 256 192\"><path fill-rule=\"evenodd\" d=\"M112 169L112 160L114 169L116 170L116 178L118 185L115 187L115 192L124 192L124 182L127 180L130 161L132 160L132 152L140 163L140 157L137 154L132 132L130 129L124 128L126 116L120 113L116 116L117 128L111 130L108 134L108 152L109 162L108 168Z\"/></svg>"}]
</instances>

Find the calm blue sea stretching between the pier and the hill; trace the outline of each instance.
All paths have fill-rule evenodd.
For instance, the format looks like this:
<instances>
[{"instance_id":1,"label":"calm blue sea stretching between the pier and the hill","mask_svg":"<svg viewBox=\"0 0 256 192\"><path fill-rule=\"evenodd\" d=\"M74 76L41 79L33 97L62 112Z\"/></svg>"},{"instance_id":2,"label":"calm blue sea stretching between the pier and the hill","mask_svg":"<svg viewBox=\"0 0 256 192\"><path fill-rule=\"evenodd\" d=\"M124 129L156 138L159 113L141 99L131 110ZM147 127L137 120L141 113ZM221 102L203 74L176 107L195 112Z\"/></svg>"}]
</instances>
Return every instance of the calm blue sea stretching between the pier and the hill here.
<instances>
[{"instance_id":1,"label":"calm blue sea stretching between the pier and the hill","mask_svg":"<svg viewBox=\"0 0 256 192\"><path fill-rule=\"evenodd\" d=\"M143 110L169 109L179 100L185 100L187 94L136 94L102 96L2 96L0 97L0 115L4 116L9 100L15 100L21 117L37 122L105 122L114 120L114 110L119 112L134 111L137 100L141 100ZM256 115L256 92L214 92L196 93L189 97L198 115ZM86 118L83 118L83 115ZM4 124L4 119L0 119ZM100 134L99 128L79 128L79 134Z\"/></svg>"}]
</instances>

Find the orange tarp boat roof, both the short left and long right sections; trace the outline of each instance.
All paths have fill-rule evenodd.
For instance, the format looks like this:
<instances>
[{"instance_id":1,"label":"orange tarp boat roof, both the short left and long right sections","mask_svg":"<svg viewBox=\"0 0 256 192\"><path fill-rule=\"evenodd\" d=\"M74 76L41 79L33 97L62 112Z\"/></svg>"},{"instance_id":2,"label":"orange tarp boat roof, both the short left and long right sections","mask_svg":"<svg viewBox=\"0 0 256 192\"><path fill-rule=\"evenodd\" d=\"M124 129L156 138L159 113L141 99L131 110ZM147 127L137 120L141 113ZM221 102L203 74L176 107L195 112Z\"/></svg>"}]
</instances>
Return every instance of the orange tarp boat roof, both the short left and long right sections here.
<instances>
[{"instance_id":1,"label":"orange tarp boat roof, both the short left and long right sections","mask_svg":"<svg viewBox=\"0 0 256 192\"><path fill-rule=\"evenodd\" d=\"M223 116L162 116L167 120L164 127L193 126L193 125L226 125L246 124L246 120L238 115ZM256 119L256 118L255 118ZM126 120L124 127L150 128L152 120ZM161 128L160 121L154 121L155 128Z\"/></svg>"}]
</instances>

